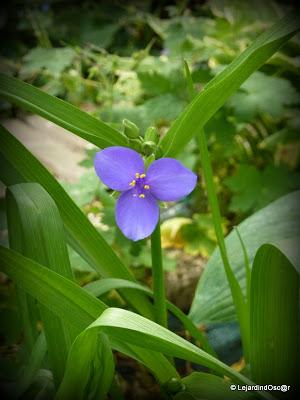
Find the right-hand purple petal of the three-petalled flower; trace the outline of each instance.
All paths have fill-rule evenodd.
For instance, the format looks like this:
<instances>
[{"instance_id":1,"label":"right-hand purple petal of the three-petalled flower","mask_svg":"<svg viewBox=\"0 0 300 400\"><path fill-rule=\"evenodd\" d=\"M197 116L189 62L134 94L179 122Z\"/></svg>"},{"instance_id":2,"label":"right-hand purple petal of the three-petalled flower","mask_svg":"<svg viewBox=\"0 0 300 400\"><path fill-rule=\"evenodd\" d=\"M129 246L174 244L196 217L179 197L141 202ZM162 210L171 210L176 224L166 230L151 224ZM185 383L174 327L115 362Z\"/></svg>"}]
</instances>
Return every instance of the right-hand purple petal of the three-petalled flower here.
<instances>
[{"instance_id":1,"label":"right-hand purple petal of the three-petalled flower","mask_svg":"<svg viewBox=\"0 0 300 400\"><path fill-rule=\"evenodd\" d=\"M191 193L197 183L197 176L174 158L154 161L147 173L150 192L161 201L176 201Z\"/></svg>"}]
</instances>

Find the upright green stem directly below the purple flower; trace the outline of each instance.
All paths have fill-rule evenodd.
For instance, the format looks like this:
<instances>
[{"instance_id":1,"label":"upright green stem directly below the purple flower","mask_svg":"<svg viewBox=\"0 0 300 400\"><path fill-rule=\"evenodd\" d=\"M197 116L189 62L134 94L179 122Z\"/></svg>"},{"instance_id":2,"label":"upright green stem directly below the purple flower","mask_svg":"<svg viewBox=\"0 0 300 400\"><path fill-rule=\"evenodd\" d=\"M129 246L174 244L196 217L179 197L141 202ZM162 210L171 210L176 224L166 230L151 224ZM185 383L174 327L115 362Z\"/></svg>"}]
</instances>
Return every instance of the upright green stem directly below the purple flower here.
<instances>
[{"instance_id":1,"label":"upright green stem directly below the purple flower","mask_svg":"<svg viewBox=\"0 0 300 400\"><path fill-rule=\"evenodd\" d=\"M167 328L167 306L162 263L160 222L158 222L151 235L151 257L155 320L158 324Z\"/></svg>"}]
</instances>

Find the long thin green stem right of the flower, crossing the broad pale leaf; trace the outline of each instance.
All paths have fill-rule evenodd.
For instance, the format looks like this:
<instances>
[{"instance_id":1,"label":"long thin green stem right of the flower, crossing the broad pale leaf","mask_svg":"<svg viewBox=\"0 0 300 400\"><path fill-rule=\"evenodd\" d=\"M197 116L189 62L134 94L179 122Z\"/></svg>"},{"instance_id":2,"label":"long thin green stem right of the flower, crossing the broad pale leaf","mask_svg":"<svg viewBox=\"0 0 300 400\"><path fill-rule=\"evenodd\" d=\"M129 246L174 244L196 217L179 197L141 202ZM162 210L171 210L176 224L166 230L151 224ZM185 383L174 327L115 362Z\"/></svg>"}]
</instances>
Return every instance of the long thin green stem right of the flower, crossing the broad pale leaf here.
<instances>
[{"instance_id":1,"label":"long thin green stem right of the flower, crossing the broad pale leaf","mask_svg":"<svg viewBox=\"0 0 300 400\"><path fill-rule=\"evenodd\" d=\"M210 204L212 218L214 223L214 228L219 244L219 249L226 273L226 277L230 286L233 302L235 305L238 321L240 324L241 330L241 337L243 343L243 351L244 351L244 358L247 362L249 360L249 346L250 346L250 316L247 307L247 303L245 302L242 289L237 281L227 255L225 240L222 231L222 223L221 223L221 213L218 204L218 199L214 187L214 180L213 180L213 171L210 162L209 152L207 148L207 142L205 137L205 132L202 129L198 134L198 143L199 143L199 151L200 157L202 161L203 167L203 175L206 184L206 191L207 197Z\"/></svg>"}]
</instances>

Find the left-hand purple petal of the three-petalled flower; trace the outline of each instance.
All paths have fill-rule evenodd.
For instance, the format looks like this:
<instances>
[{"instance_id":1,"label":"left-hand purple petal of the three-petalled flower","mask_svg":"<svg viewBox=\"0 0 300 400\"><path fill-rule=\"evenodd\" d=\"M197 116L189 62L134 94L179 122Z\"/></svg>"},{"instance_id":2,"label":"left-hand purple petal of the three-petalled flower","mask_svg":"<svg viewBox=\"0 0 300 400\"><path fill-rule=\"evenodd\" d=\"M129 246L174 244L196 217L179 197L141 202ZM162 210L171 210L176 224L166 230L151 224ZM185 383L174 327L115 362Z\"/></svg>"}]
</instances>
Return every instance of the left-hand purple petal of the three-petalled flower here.
<instances>
[{"instance_id":1,"label":"left-hand purple petal of the three-petalled flower","mask_svg":"<svg viewBox=\"0 0 300 400\"><path fill-rule=\"evenodd\" d=\"M127 147L107 147L96 154L95 170L101 181L113 190L130 189L135 174L144 172L144 162L139 153Z\"/></svg>"}]
</instances>

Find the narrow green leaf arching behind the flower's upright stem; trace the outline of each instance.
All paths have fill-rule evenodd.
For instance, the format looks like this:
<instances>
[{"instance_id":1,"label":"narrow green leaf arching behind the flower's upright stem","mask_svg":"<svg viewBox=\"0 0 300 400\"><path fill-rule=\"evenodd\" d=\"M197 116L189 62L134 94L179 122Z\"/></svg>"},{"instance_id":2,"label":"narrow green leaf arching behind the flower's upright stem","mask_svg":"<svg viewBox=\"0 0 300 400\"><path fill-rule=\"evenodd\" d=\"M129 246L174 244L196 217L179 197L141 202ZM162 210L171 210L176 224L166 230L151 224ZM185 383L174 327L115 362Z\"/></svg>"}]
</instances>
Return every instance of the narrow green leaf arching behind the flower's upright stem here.
<instances>
[{"instance_id":1,"label":"narrow green leaf arching behind the flower's upright stem","mask_svg":"<svg viewBox=\"0 0 300 400\"><path fill-rule=\"evenodd\" d=\"M124 279L100 279L98 281L91 282L87 285L84 286L84 289L87 290L89 293L93 294L96 297L100 297L103 294L109 292L112 289L119 289L119 288L127 288L127 289L135 289L135 290L140 290L141 292L147 294L148 296L153 297L153 292L135 282L131 281L126 281ZM212 354L213 356L216 356L216 353L214 350L211 348L210 344L208 343L206 337L201 333L201 331L197 328L196 325L194 325L193 321L187 317L184 312L182 312L178 307L176 307L173 303L170 301L166 301L167 308L168 310L179 319L179 321L182 323L184 328L191 334L191 336L199 341L203 349L207 352Z\"/></svg>"}]
</instances>

